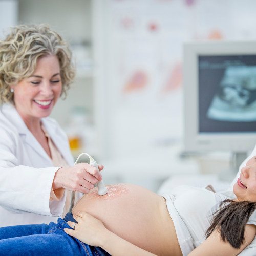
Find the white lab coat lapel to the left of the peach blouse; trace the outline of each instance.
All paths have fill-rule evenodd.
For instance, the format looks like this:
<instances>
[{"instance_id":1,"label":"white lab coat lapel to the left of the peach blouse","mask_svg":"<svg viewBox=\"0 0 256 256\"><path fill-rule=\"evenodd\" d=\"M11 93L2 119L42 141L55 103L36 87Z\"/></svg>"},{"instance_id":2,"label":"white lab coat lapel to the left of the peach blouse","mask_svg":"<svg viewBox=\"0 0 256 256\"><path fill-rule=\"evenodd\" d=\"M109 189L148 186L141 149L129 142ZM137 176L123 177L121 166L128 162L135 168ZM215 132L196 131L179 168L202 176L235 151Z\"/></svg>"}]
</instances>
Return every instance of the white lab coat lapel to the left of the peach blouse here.
<instances>
[{"instance_id":1,"label":"white lab coat lapel to the left of the peach blouse","mask_svg":"<svg viewBox=\"0 0 256 256\"><path fill-rule=\"evenodd\" d=\"M29 131L27 125L23 121L22 117L18 114L15 106L5 104L2 106L5 116L15 125L19 135L25 136L25 142L31 146L41 157L45 158L49 162L49 167L53 166L50 157L45 152L44 148L40 145L34 135Z\"/></svg>"}]
</instances>

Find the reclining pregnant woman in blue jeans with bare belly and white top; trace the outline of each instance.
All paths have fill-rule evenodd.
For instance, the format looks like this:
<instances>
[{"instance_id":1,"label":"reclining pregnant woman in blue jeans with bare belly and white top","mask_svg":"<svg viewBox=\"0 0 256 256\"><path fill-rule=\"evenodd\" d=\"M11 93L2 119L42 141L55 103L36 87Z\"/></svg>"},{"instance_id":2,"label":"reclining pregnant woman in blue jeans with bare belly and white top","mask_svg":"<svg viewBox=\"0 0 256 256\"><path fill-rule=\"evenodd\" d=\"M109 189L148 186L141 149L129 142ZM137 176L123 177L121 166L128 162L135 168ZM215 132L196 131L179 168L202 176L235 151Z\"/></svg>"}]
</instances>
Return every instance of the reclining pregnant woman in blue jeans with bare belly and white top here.
<instances>
[{"instance_id":1,"label":"reclining pregnant woman in blue jeans with bare belly and white top","mask_svg":"<svg viewBox=\"0 0 256 256\"><path fill-rule=\"evenodd\" d=\"M104 196L94 188L76 203L73 217L67 214L57 224L0 228L0 251L3 255L253 255L255 169L253 157L233 186L236 198L210 187L180 186L162 196L132 184L109 185Z\"/></svg>"}]
</instances>

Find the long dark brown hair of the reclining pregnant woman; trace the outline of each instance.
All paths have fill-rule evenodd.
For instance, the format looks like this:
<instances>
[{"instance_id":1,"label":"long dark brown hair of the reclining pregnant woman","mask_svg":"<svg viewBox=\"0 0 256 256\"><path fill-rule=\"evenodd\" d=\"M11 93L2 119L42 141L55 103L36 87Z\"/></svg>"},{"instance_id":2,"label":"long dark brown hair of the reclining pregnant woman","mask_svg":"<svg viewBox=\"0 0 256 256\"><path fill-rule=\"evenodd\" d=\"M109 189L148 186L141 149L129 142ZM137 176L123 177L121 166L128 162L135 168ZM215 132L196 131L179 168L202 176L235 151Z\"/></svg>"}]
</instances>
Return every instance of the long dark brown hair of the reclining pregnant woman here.
<instances>
[{"instance_id":1,"label":"long dark brown hair of the reclining pregnant woman","mask_svg":"<svg viewBox=\"0 0 256 256\"><path fill-rule=\"evenodd\" d=\"M223 242L227 241L233 248L239 249L245 240L245 225L255 209L256 202L236 202L229 199L222 201L220 210L215 213L205 233L206 238L214 230L218 230Z\"/></svg>"}]
</instances>

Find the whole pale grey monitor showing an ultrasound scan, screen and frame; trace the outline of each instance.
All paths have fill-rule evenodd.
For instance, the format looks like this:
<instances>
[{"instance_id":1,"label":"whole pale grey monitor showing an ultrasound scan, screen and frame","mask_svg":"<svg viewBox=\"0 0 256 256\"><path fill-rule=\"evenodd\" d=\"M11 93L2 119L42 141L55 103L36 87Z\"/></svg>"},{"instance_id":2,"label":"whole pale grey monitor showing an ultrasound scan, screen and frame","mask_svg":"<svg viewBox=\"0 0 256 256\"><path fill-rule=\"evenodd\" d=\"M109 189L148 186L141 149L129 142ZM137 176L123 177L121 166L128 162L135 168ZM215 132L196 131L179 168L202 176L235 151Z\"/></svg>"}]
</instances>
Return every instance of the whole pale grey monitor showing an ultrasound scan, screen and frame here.
<instances>
[{"instance_id":1,"label":"whole pale grey monitor showing an ultrasound scan, screen and frame","mask_svg":"<svg viewBox=\"0 0 256 256\"><path fill-rule=\"evenodd\" d=\"M184 44L186 151L248 152L256 144L256 41Z\"/></svg>"}]
</instances>

